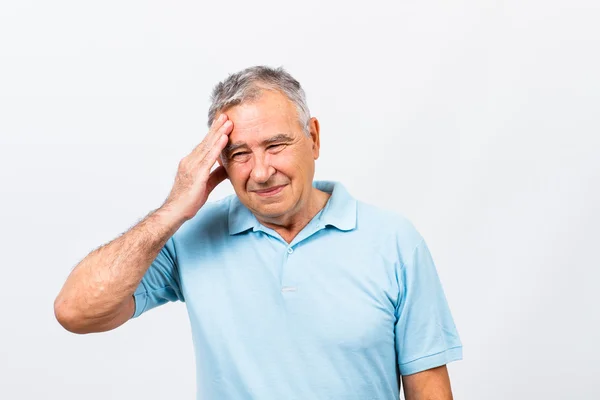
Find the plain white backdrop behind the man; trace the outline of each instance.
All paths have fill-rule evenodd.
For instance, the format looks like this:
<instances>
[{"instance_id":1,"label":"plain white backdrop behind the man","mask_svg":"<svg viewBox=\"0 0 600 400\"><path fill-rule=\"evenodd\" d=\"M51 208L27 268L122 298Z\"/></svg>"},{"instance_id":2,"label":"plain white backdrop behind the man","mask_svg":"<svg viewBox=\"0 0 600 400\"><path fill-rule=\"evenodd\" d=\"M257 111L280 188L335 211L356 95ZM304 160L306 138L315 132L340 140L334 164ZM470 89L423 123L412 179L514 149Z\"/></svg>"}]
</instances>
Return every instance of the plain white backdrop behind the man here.
<instances>
[{"instance_id":1,"label":"plain white backdrop behind the man","mask_svg":"<svg viewBox=\"0 0 600 400\"><path fill-rule=\"evenodd\" d=\"M183 303L80 336L53 301L162 204L213 85L256 64L304 86L316 179L427 240L455 399L600 398L599 20L595 0L3 2L0 398L194 398Z\"/></svg>"}]
</instances>

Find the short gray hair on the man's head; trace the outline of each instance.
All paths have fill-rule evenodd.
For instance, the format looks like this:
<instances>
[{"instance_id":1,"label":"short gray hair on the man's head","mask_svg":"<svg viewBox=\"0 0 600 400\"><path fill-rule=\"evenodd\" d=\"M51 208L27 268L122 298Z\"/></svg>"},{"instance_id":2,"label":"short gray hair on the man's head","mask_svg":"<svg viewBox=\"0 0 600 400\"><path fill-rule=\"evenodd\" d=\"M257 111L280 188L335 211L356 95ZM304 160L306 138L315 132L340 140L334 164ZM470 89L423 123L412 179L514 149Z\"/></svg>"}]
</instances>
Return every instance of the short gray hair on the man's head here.
<instances>
[{"instance_id":1,"label":"short gray hair on the man's head","mask_svg":"<svg viewBox=\"0 0 600 400\"><path fill-rule=\"evenodd\" d=\"M262 65L231 74L214 87L208 109L208 127L212 125L217 112L256 100L263 90L277 90L286 95L296 106L302 130L307 136L310 135L308 129L310 111L306 105L306 94L300 83L282 67L274 69Z\"/></svg>"}]
</instances>

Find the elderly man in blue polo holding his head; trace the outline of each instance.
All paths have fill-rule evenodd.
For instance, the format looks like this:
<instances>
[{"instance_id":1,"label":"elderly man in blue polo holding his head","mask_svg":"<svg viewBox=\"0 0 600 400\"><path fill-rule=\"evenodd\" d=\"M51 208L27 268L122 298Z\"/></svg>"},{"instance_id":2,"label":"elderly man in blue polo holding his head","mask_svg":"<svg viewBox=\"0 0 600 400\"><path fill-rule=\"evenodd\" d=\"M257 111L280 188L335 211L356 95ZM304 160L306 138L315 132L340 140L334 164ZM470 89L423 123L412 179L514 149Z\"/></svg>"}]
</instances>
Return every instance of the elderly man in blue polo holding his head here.
<instances>
[{"instance_id":1,"label":"elderly man in blue polo holding his head","mask_svg":"<svg viewBox=\"0 0 600 400\"><path fill-rule=\"evenodd\" d=\"M231 75L209 126L164 204L72 271L58 321L101 332L184 301L198 399L398 399L401 384L451 399L462 345L427 245L403 216L313 181L320 128L300 84ZM235 195L207 202L225 179Z\"/></svg>"}]
</instances>

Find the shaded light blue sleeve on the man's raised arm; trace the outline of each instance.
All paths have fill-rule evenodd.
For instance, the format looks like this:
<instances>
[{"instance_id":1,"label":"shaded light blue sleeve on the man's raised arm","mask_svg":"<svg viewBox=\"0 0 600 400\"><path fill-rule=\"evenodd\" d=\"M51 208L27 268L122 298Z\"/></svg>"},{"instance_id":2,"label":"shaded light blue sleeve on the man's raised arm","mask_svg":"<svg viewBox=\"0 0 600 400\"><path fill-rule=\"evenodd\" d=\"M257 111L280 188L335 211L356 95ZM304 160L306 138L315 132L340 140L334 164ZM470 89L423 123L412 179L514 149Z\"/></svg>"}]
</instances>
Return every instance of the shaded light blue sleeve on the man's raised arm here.
<instances>
[{"instance_id":1,"label":"shaded light blue sleeve on the man's raised arm","mask_svg":"<svg viewBox=\"0 0 600 400\"><path fill-rule=\"evenodd\" d=\"M152 262L133 294L135 312L131 318L169 301L185 301L181 292L175 242L171 237Z\"/></svg>"}]
</instances>

